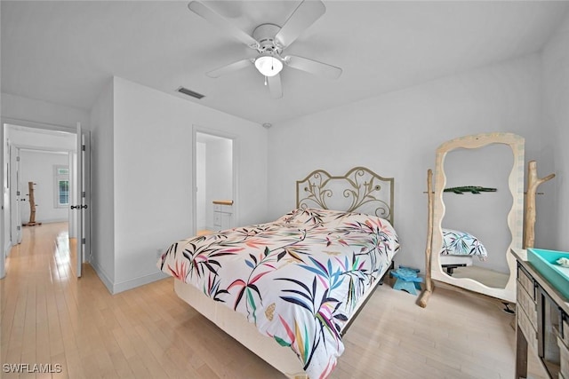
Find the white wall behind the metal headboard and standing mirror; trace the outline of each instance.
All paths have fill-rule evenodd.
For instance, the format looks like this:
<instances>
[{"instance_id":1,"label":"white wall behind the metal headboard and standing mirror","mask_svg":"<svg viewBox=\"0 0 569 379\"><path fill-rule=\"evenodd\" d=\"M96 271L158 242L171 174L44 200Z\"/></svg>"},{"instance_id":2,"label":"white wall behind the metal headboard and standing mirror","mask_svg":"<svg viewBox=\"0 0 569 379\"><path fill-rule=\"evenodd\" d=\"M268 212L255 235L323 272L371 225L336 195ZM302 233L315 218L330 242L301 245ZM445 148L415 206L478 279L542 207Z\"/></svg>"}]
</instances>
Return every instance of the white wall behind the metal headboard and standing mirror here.
<instances>
[{"instance_id":1,"label":"white wall behind the metal headboard and standing mirror","mask_svg":"<svg viewBox=\"0 0 569 379\"><path fill-rule=\"evenodd\" d=\"M444 141L488 131L526 138L539 151L538 55L448 76L405 91L310 114L269 130L269 218L293 209L295 180L324 169L342 175L366 166L395 177L397 265L424 268L427 170ZM286 157L286 159L284 159Z\"/></svg>"}]
</instances>

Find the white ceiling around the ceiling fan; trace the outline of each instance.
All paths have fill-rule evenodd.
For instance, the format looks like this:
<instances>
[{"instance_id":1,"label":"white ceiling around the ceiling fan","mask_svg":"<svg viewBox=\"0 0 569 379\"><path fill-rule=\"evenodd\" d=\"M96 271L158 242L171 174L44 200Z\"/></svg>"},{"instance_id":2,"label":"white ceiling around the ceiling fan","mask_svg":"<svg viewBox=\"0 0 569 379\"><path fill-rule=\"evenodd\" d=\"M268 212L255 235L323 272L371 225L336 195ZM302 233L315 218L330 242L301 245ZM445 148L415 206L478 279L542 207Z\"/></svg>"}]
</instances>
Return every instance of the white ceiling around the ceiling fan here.
<instances>
[{"instance_id":1,"label":"white ceiling around the ceiling fan","mask_svg":"<svg viewBox=\"0 0 569 379\"><path fill-rule=\"evenodd\" d=\"M255 51L188 11L187 1L2 1L2 91L88 110L112 75L253 122L397 91L540 51L567 1L331 1L286 54L341 67L329 81L291 67L272 99L254 67L205 72ZM251 34L299 1L204 2ZM179 86L205 95L178 94Z\"/></svg>"}]
</instances>

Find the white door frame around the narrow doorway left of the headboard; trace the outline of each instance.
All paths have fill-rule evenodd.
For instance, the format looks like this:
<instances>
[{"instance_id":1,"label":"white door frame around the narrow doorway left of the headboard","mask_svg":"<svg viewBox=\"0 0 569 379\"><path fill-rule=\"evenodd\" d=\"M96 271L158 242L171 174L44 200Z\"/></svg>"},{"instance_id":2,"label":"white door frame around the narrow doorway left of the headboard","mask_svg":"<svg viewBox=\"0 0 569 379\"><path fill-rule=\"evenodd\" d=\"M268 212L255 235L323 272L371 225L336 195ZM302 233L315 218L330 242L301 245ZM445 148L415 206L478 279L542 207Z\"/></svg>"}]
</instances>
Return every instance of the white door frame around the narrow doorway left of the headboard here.
<instances>
[{"instance_id":1,"label":"white door frame around the narrow doorway left of the headboard","mask_svg":"<svg viewBox=\"0 0 569 379\"><path fill-rule=\"evenodd\" d=\"M231 165L232 165L232 182L233 188L231 188L231 192L233 194L233 219L238 225L239 220L239 201L236 199L239 198L238 188L238 170L239 164L237 157L239 156L239 138L235 134L227 133L221 130L214 130L211 128L204 128L199 125L192 125L192 230L191 233L196 235L197 233L197 133L200 134L209 134L210 136L220 137L231 139L232 143L232 156L231 156Z\"/></svg>"}]
</instances>

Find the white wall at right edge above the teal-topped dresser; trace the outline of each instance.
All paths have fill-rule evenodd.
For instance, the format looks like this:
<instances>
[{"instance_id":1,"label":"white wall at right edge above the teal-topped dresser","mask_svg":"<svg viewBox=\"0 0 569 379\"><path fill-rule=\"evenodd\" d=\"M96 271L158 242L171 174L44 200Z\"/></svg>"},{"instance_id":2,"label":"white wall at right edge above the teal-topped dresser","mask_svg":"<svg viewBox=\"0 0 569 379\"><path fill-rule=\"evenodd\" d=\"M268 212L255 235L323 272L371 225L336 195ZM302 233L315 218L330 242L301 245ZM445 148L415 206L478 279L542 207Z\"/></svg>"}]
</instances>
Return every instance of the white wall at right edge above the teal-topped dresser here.
<instances>
[{"instance_id":1,"label":"white wall at right edge above the teal-topped dresser","mask_svg":"<svg viewBox=\"0 0 569 379\"><path fill-rule=\"evenodd\" d=\"M540 186L537 196L535 246L569 251L569 16L543 49L543 141L540 178L556 178ZM540 164L543 162L543 164Z\"/></svg>"}]
</instances>

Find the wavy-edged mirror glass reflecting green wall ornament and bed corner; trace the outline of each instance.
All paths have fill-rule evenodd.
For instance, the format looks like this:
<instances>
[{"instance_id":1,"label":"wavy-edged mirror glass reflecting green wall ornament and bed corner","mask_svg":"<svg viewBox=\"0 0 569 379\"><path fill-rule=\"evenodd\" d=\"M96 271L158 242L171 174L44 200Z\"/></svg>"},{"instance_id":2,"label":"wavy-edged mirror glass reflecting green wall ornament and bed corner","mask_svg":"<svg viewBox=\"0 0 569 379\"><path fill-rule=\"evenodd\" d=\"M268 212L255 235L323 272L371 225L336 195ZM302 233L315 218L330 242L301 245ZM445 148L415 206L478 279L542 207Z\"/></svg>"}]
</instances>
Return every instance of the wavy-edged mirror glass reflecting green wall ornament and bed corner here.
<instances>
[{"instance_id":1,"label":"wavy-edged mirror glass reflecting green wall ornament and bed corner","mask_svg":"<svg viewBox=\"0 0 569 379\"><path fill-rule=\"evenodd\" d=\"M507 145L456 149L445 158L445 216L440 265L453 278L505 288L512 240L508 179L514 157Z\"/></svg>"}]
</instances>

